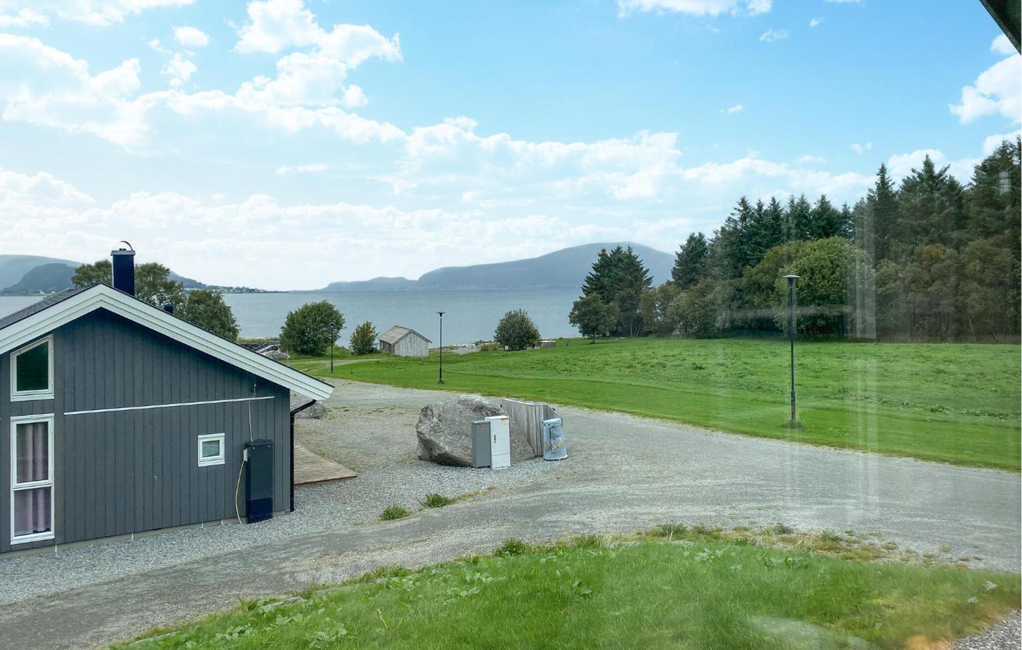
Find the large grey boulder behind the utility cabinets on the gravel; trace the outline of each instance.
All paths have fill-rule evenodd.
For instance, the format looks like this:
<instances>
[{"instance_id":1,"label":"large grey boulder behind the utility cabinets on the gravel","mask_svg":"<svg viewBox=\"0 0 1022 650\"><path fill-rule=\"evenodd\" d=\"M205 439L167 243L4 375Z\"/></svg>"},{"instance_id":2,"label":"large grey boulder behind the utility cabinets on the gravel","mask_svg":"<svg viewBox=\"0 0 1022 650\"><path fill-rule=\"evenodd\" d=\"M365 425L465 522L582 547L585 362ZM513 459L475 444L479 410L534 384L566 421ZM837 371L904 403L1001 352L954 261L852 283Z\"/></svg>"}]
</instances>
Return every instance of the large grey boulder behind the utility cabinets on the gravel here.
<instances>
[{"instance_id":1,"label":"large grey boulder behind the utility cabinets on the gravel","mask_svg":"<svg viewBox=\"0 0 1022 650\"><path fill-rule=\"evenodd\" d=\"M439 404L427 404L415 425L419 458L442 465L472 466L472 422L493 415L506 415L499 403L478 396L461 396ZM511 462L532 458L532 449L522 435L511 435Z\"/></svg>"}]
</instances>

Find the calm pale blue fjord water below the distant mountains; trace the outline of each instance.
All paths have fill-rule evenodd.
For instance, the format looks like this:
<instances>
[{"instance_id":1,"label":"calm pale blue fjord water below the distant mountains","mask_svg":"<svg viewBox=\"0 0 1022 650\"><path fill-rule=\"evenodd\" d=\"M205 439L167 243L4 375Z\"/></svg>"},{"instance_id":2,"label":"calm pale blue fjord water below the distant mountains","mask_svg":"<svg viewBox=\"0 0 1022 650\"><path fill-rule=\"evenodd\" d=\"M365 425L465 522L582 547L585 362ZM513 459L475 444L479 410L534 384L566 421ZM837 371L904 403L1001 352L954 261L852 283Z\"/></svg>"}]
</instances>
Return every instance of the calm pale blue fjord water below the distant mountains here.
<instances>
[{"instance_id":1,"label":"calm pale blue fjord water below the distant mountains","mask_svg":"<svg viewBox=\"0 0 1022 650\"><path fill-rule=\"evenodd\" d=\"M245 338L275 336L287 313L306 303L328 300L344 315L340 342L346 343L356 325L371 321L379 332L404 325L421 332L433 345L439 341L436 312L444 312L444 343L470 343L494 337L494 328L506 312L523 309L544 337L577 335L568 324L578 288L417 290L417 291L293 291L288 293L227 293ZM0 317L27 307L35 296L0 296Z\"/></svg>"}]
</instances>

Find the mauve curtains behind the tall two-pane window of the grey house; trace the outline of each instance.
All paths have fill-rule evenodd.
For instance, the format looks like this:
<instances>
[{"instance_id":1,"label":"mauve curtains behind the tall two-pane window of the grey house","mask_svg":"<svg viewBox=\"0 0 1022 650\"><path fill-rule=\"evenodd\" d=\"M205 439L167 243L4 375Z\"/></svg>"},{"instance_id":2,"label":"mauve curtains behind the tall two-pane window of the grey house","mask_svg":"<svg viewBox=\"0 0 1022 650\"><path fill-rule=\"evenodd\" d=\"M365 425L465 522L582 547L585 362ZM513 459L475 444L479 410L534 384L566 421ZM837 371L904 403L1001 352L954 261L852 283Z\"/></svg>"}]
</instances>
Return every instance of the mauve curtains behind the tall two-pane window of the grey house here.
<instances>
[{"instance_id":1,"label":"mauve curtains behind the tall two-pane window of the grey house","mask_svg":"<svg viewBox=\"0 0 1022 650\"><path fill-rule=\"evenodd\" d=\"M46 422L16 427L15 482L50 480L50 436ZM52 488L14 491L14 535L33 535L50 529Z\"/></svg>"}]
</instances>

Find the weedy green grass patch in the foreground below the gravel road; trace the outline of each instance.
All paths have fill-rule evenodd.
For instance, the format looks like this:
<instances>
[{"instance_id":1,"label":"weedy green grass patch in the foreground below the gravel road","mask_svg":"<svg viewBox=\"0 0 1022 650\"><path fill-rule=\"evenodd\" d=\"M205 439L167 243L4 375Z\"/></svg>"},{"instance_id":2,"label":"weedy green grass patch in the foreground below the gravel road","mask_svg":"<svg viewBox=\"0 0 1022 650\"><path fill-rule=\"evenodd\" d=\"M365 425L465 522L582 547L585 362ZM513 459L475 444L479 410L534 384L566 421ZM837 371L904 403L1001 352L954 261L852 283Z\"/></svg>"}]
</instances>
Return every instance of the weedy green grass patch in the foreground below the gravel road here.
<instances>
[{"instance_id":1,"label":"weedy green grass patch in the foreground below the gravel road","mask_svg":"<svg viewBox=\"0 0 1022 650\"><path fill-rule=\"evenodd\" d=\"M929 648L1019 606L1016 574L668 530L672 544L509 540L494 556L245 602L133 647Z\"/></svg>"}]
</instances>

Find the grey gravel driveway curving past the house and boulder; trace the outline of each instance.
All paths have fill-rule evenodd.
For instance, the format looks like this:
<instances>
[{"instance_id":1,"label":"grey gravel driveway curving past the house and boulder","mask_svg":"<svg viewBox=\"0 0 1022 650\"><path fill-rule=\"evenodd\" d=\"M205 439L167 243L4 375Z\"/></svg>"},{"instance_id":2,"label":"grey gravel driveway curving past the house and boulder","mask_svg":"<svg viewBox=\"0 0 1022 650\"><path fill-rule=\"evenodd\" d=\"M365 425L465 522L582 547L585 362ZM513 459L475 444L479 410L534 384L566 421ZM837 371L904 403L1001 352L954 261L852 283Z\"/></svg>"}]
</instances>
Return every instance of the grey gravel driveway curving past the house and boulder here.
<instances>
[{"instance_id":1,"label":"grey gravel driveway curving past the house and boulder","mask_svg":"<svg viewBox=\"0 0 1022 650\"><path fill-rule=\"evenodd\" d=\"M419 409L453 397L339 382L328 416L298 420L296 436L359 476L298 489L291 515L0 560L0 647L90 646L230 607L239 595L343 579L379 564L439 561L507 537L629 531L665 520L876 532L921 553L1018 570L1018 474L567 407L558 409L565 461L494 471L417 460ZM377 521L386 505L418 509L431 492L481 494Z\"/></svg>"}]
</instances>

